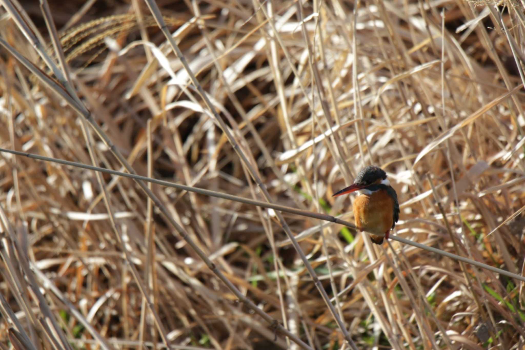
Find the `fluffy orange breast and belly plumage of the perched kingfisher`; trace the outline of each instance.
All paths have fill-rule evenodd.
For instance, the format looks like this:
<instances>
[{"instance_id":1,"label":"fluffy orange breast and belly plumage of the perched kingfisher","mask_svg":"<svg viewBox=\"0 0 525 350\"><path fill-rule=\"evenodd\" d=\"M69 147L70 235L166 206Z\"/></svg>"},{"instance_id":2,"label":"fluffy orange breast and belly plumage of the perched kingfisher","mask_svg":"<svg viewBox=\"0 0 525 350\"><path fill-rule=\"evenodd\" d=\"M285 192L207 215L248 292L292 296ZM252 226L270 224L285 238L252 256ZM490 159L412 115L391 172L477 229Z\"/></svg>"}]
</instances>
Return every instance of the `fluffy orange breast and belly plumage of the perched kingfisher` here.
<instances>
[{"instance_id":1,"label":"fluffy orange breast and belly plumage of the perched kingfisher","mask_svg":"<svg viewBox=\"0 0 525 350\"><path fill-rule=\"evenodd\" d=\"M371 234L384 234L394 223L394 200L380 189L370 195L359 195L354 200L355 226Z\"/></svg>"}]
</instances>

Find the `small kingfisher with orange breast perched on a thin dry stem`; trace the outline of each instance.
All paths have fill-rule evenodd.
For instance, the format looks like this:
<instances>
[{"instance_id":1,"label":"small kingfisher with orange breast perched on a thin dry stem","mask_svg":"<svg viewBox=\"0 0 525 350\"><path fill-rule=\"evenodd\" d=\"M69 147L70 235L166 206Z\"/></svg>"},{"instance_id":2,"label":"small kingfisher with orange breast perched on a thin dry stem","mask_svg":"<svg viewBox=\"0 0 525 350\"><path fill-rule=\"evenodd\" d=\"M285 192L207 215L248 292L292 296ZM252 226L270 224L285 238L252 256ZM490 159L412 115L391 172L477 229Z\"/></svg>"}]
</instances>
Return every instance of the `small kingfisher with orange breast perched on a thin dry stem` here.
<instances>
[{"instance_id":1,"label":"small kingfisher with orange breast perched on a thin dry stem","mask_svg":"<svg viewBox=\"0 0 525 350\"><path fill-rule=\"evenodd\" d=\"M379 166L369 165L362 169L352 185L336 192L332 197L359 191L353 204L355 226L370 232L372 242L381 245L388 239L390 230L399 220L397 193L390 186L386 173Z\"/></svg>"}]
</instances>

